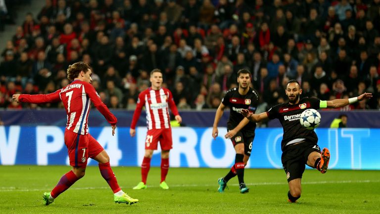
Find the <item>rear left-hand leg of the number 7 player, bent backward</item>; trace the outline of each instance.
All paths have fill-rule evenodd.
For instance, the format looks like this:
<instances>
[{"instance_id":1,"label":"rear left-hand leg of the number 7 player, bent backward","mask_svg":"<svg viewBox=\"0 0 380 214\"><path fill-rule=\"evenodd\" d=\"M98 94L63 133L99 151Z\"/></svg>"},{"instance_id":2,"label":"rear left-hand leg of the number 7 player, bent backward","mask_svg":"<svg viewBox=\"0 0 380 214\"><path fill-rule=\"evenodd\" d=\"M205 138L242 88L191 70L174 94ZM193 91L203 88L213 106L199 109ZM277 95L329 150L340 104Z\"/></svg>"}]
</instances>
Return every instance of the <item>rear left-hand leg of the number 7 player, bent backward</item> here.
<instances>
[{"instance_id":1,"label":"rear left-hand leg of the number 7 player, bent backward","mask_svg":"<svg viewBox=\"0 0 380 214\"><path fill-rule=\"evenodd\" d=\"M57 185L51 190L50 193L44 193L44 205L51 204L56 197L66 191L77 180L85 176L88 158L88 152L86 153L86 148L88 146L87 136L79 135L70 130L66 130L64 141L68 149L68 155L72 169L59 179Z\"/></svg>"}]
</instances>

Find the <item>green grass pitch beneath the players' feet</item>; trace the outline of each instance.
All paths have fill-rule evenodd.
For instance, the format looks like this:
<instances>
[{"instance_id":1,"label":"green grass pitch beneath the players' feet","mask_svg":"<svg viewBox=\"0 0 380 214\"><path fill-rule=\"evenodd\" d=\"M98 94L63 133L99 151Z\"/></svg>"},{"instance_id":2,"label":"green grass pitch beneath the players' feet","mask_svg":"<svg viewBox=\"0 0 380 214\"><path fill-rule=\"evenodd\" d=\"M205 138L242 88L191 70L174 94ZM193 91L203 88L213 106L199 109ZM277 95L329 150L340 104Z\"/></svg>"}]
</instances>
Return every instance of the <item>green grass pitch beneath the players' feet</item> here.
<instances>
[{"instance_id":1,"label":"green grass pitch beneath the players' feet","mask_svg":"<svg viewBox=\"0 0 380 214\"><path fill-rule=\"evenodd\" d=\"M225 193L217 179L228 169L170 168L169 190L158 187L160 169L152 167L145 190L132 190L140 181L139 167L113 167L119 185L140 202L115 204L112 191L97 167L61 194L42 205L42 194L55 186L69 166L0 166L0 214L379 214L380 171L306 170L302 197L287 202L287 183L281 169L246 169L249 193L238 192L233 178Z\"/></svg>"}]
</instances>

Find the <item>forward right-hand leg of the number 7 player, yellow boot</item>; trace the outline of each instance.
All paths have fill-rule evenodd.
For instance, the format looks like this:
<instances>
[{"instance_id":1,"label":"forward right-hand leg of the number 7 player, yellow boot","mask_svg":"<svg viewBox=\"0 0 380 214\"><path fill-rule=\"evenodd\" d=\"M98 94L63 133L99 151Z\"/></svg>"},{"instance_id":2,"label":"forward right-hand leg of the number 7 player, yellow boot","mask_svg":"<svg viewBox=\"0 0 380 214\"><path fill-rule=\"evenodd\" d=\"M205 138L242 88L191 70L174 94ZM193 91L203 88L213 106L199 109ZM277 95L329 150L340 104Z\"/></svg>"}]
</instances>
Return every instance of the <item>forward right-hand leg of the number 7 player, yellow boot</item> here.
<instances>
[{"instance_id":1,"label":"forward right-hand leg of the number 7 player, yellow boot","mask_svg":"<svg viewBox=\"0 0 380 214\"><path fill-rule=\"evenodd\" d=\"M113 198L115 203L134 204L138 199L131 198L128 194L123 192L117 183L115 173L113 172L109 163L109 156L103 147L90 135L89 135L89 157L98 162L99 171L101 176L107 181L109 187L111 187L114 194Z\"/></svg>"}]
</instances>

